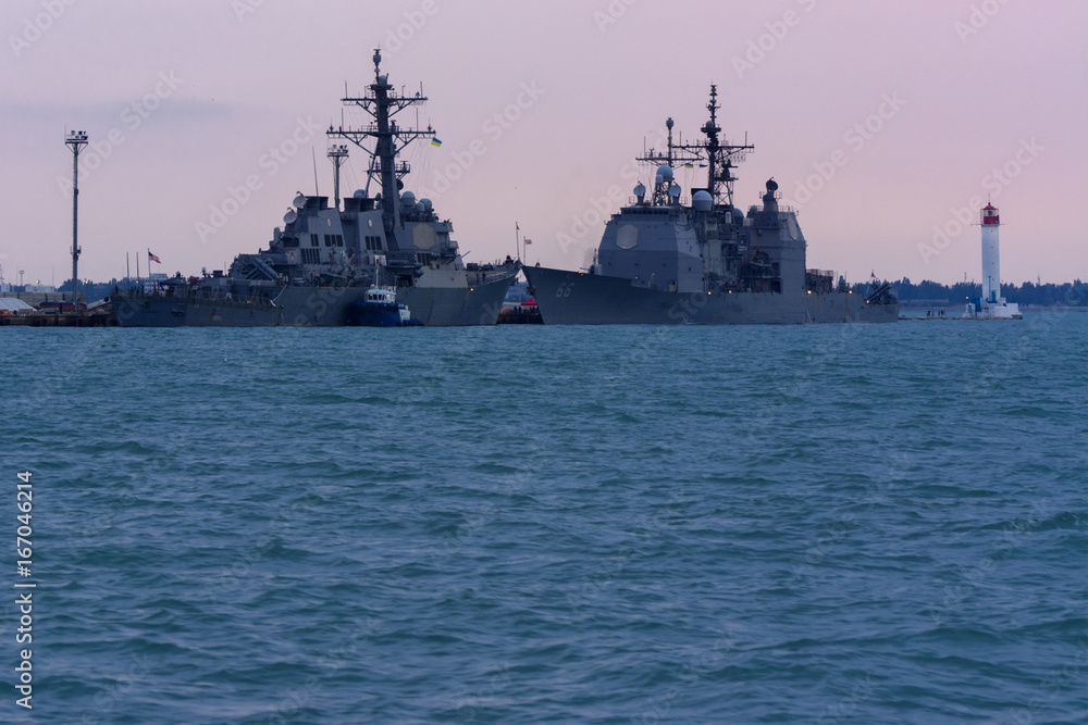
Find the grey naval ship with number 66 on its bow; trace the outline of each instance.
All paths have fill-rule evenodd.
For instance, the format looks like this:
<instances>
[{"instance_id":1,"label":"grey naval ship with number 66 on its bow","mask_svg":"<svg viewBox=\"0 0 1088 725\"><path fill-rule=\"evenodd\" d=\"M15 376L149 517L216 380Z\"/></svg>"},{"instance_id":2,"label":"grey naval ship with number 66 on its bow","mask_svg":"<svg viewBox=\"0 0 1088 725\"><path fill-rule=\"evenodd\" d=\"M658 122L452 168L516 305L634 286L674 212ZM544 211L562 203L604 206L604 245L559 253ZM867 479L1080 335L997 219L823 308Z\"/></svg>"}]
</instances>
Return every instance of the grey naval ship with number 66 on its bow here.
<instances>
[{"instance_id":1,"label":"grey naval ship with number 66 on its bow","mask_svg":"<svg viewBox=\"0 0 1088 725\"><path fill-rule=\"evenodd\" d=\"M605 225L594 263L570 272L526 266L546 325L894 322L890 286L853 293L834 273L805 268L796 213L780 207L767 182L763 205L733 205L733 168L754 147L719 138L717 87L710 86L705 140L653 149L639 161L656 168L631 203ZM682 141L682 137L681 137ZM673 168L706 167L705 188L684 203Z\"/></svg>"}]
</instances>

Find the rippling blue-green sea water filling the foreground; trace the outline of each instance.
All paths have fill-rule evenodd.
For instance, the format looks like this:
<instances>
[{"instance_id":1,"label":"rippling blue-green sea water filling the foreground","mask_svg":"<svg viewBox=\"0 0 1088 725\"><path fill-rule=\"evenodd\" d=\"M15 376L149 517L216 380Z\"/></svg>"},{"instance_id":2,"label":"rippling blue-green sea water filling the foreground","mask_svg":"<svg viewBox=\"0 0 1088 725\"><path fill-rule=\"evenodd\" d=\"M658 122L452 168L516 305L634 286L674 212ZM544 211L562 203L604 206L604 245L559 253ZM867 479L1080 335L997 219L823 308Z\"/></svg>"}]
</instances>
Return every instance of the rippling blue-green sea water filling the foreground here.
<instances>
[{"instance_id":1,"label":"rippling blue-green sea water filling the foreground","mask_svg":"<svg viewBox=\"0 0 1088 725\"><path fill-rule=\"evenodd\" d=\"M3 328L0 720L1083 723L1086 352L1077 313Z\"/></svg>"}]
</instances>

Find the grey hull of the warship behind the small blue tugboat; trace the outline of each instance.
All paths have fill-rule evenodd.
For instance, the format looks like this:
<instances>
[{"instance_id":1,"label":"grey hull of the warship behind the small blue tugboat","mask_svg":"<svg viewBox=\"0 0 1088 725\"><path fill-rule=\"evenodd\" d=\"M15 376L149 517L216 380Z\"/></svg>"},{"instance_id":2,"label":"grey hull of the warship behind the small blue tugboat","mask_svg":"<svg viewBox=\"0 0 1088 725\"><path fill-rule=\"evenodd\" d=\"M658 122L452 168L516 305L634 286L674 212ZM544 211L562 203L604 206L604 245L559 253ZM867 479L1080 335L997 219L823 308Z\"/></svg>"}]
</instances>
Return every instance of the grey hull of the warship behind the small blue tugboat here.
<instances>
[{"instance_id":1,"label":"grey hull of the warship behind the small blue tugboat","mask_svg":"<svg viewBox=\"0 0 1088 725\"><path fill-rule=\"evenodd\" d=\"M405 287L397 302L428 327L494 325L509 277L472 287ZM287 287L268 302L158 295L111 298L122 327L333 327L350 324L349 310L369 287Z\"/></svg>"}]
</instances>

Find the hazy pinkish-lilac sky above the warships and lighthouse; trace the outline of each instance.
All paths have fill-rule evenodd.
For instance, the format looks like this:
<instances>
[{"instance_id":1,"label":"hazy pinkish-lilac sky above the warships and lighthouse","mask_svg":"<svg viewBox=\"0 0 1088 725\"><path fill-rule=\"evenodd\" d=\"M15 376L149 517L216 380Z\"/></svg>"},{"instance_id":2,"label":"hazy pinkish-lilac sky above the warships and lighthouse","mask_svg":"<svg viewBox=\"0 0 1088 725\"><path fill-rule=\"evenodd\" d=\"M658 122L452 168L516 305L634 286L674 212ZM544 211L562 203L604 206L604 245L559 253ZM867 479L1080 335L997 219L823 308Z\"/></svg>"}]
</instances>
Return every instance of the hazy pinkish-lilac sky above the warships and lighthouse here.
<instances>
[{"instance_id":1,"label":"hazy pinkish-lilac sky above the warships and lighthouse","mask_svg":"<svg viewBox=\"0 0 1088 725\"><path fill-rule=\"evenodd\" d=\"M717 84L726 137L755 147L735 203L774 177L809 267L978 279L989 198L1004 282L1088 278L1084 0L4 0L0 35L9 283L71 276L72 129L91 142L81 277L123 276L126 252L195 274L265 246L314 159L332 196L324 130L362 122L341 99L375 48L393 85L422 83L443 143L406 149L406 189L468 261L514 254L518 227L530 263L586 265L634 174L651 180L635 157L667 117L698 138Z\"/></svg>"}]
</instances>

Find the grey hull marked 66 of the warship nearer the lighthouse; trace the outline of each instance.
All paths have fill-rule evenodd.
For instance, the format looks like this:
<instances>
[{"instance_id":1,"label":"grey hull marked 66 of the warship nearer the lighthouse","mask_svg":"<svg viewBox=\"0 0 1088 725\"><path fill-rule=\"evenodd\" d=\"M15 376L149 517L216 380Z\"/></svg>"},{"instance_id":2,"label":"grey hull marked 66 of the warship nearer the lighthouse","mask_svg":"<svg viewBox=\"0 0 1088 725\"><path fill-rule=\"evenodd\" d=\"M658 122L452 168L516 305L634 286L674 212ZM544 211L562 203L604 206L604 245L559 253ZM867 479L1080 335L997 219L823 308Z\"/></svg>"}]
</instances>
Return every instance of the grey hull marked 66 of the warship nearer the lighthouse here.
<instances>
[{"instance_id":1,"label":"grey hull marked 66 of the warship nearer the lighthouse","mask_svg":"<svg viewBox=\"0 0 1088 725\"><path fill-rule=\"evenodd\" d=\"M545 325L754 325L883 323L899 303L867 304L849 292L670 292L621 277L524 267Z\"/></svg>"}]
</instances>

